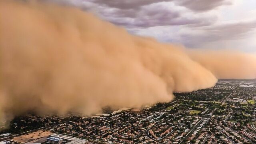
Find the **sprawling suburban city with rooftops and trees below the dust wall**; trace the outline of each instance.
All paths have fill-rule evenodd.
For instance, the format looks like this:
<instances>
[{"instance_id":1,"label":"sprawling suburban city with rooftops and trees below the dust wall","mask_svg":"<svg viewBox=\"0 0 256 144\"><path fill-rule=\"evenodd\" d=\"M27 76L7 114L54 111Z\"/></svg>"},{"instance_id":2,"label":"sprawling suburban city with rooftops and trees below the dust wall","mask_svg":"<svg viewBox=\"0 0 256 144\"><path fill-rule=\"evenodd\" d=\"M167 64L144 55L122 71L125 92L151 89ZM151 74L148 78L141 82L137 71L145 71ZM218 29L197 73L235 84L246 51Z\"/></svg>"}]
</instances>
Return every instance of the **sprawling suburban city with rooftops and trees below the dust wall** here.
<instances>
[{"instance_id":1,"label":"sprawling suburban city with rooftops and trees below the dust wall","mask_svg":"<svg viewBox=\"0 0 256 144\"><path fill-rule=\"evenodd\" d=\"M19 116L2 126L0 144L256 144L256 80L219 80L174 95L142 110Z\"/></svg>"}]
</instances>

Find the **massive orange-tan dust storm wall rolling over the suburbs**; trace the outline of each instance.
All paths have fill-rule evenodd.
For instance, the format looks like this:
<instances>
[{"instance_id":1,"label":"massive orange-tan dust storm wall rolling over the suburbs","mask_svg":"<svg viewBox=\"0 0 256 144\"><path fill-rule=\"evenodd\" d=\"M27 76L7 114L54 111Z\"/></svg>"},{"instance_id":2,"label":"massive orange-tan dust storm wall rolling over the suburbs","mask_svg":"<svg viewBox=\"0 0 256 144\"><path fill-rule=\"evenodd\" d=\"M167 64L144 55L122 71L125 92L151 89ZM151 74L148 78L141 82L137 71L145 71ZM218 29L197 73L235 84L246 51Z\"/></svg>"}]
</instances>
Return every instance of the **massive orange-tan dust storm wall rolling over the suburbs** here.
<instances>
[{"instance_id":1,"label":"massive orange-tan dust storm wall rolling over the suburbs","mask_svg":"<svg viewBox=\"0 0 256 144\"><path fill-rule=\"evenodd\" d=\"M256 78L256 58L128 34L76 8L0 1L0 114L140 108L172 92Z\"/></svg>"}]
</instances>

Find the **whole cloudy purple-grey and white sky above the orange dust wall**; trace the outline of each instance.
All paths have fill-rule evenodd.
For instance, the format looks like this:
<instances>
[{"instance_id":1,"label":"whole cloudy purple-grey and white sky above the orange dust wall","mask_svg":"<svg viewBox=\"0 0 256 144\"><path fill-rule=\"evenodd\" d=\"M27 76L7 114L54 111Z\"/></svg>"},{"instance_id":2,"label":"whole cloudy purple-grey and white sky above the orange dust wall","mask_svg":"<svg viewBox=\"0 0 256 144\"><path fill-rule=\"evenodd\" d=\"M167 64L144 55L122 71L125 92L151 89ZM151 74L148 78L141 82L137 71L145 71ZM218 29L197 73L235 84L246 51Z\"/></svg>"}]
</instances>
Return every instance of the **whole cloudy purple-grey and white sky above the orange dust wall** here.
<instances>
[{"instance_id":1,"label":"whole cloudy purple-grey and white sky above the orange dust wall","mask_svg":"<svg viewBox=\"0 0 256 144\"><path fill-rule=\"evenodd\" d=\"M256 0L55 1L160 42L256 52Z\"/></svg>"}]
</instances>

